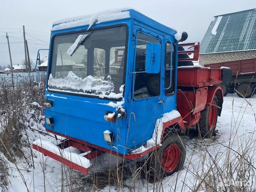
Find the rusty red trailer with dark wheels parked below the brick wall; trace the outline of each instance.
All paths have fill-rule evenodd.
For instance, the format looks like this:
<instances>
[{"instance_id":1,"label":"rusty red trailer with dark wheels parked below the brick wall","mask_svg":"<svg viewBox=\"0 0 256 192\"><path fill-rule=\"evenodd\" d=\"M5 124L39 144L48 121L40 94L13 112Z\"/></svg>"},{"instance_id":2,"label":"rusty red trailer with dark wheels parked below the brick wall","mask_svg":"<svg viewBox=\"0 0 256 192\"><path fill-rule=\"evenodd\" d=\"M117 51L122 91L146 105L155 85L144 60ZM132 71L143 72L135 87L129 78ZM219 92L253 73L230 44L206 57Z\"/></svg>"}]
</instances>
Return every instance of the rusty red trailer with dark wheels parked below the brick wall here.
<instances>
[{"instance_id":1,"label":"rusty red trailer with dark wheels parked below the brick wall","mask_svg":"<svg viewBox=\"0 0 256 192\"><path fill-rule=\"evenodd\" d=\"M256 58L243 59L231 62L212 63L205 65L212 68L228 67L232 71L232 79L228 87L223 86L225 93L236 92L239 97L250 98L256 89Z\"/></svg>"}]
</instances>

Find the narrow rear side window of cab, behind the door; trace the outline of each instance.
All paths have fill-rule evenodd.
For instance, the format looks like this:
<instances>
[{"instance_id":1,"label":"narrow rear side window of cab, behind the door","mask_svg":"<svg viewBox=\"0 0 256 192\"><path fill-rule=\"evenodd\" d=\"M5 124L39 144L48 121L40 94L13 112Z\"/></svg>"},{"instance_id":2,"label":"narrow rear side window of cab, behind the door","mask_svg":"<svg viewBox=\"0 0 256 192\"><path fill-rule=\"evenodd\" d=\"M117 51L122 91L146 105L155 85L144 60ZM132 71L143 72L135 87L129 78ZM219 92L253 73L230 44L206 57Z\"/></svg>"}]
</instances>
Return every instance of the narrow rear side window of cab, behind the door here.
<instances>
[{"instance_id":1,"label":"narrow rear side window of cab, behind the door","mask_svg":"<svg viewBox=\"0 0 256 192\"><path fill-rule=\"evenodd\" d=\"M172 60L171 60L172 55ZM174 92L174 82L175 82L175 69L176 69L176 60L175 60L175 47L166 43L165 48L165 88L170 86L170 73L171 73L171 86L169 89L165 90L165 94L172 94Z\"/></svg>"}]
</instances>

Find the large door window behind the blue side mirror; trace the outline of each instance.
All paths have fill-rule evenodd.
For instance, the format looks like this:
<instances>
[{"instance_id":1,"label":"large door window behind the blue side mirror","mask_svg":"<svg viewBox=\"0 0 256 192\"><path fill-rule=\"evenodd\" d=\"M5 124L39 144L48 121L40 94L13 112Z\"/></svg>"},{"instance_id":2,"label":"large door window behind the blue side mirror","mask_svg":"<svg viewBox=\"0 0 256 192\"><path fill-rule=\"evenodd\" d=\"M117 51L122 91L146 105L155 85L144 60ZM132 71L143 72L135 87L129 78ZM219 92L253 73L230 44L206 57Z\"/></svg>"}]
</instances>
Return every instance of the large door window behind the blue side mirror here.
<instances>
[{"instance_id":1,"label":"large door window behind the blue side mirror","mask_svg":"<svg viewBox=\"0 0 256 192\"><path fill-rule=\"evenodd\" d=\"M147 36L143 33L137 35L134 93L136 99L159 96L160 94L160 73L149 74L145 72L146 44L160 43L159 39ZM140 41L143 40L143 41ZM160 65L160 60L159 60ZM144 71L144 72L143 72Z\"/></svg>"}]
</instances>

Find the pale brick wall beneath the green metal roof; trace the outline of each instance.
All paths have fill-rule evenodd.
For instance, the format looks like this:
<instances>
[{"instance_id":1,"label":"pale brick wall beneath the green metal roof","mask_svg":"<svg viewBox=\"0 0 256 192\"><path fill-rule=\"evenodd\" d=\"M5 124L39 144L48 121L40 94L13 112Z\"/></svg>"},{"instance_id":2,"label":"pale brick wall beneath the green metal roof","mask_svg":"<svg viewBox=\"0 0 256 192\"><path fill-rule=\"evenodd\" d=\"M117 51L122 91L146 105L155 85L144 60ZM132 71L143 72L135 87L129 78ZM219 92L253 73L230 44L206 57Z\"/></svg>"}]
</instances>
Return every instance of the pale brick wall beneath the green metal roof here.
<instances>
[{"instance_id":1,"label":"pale brick wall beneath the green metal roof","mask_svg":"<svg viewBox=\"0 0 256 192\"><path fill-rule=\"evenodd\" d=\"M252 58L256 58L256 50L200 54L199 64L205 65L210 63L220 63L220 62L228 62L228 61L252 59Z\"/></svg>"}]
</instances>

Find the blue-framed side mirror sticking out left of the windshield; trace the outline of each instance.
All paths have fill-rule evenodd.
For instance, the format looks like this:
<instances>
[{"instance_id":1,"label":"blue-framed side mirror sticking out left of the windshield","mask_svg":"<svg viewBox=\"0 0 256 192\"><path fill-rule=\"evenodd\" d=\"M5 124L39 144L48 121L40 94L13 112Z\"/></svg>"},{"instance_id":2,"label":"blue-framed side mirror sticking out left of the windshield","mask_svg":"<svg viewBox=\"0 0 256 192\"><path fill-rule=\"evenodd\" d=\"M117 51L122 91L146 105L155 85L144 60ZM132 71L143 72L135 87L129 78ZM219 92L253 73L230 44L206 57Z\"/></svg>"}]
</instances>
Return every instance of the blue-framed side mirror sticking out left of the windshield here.
<instances>
[{"instance_id":1,"label":"blue-framed side mirror sticking out left of the windshield","mask_svg":"<svg viewBox=\"0 0 256 192\"><path fill-rule=\"evenodd\" d=\"M36 72L47 72L48 67L48 54L49 49L39 49L37 52L37 59L36 59Z\"/></svg>"}]
</instances>

